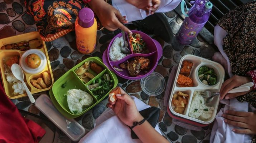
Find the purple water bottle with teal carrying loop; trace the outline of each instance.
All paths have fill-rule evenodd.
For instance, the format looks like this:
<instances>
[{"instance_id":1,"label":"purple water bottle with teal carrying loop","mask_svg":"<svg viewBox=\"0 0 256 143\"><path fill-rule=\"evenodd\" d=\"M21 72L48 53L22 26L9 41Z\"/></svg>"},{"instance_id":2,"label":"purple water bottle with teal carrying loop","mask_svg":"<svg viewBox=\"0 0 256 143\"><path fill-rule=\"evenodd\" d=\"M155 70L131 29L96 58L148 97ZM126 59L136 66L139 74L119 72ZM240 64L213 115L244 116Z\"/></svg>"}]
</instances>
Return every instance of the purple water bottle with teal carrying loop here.
<instances>
[{"instance_id":1,"label":"purple water bottle with teal carrying loop","mask_svg":"<svg viewBox=\"0 0 256 143\"><path fill-rule=\"evenodd\" d=\"M197 34L206 24L212 11L212 3L208 0L195 0L190 1L190 3L194 3L190 9L187 8L184 0L182 0L180 4L182 13L186 18L180 27L177 40L183 45L192 43ZM186 9L188 10L188 14L185 14L184 6L186 6Z\"/></svg>"}]
</instances>

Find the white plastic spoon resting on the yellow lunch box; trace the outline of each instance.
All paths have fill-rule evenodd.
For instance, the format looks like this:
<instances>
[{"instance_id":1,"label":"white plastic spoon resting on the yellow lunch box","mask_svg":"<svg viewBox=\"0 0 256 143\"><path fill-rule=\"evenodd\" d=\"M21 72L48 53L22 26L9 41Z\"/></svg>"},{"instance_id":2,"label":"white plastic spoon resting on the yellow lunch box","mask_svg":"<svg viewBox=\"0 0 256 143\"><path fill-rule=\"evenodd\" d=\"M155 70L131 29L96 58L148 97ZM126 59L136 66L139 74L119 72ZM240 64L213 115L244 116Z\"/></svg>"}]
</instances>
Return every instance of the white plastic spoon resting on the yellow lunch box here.
<instances>
[{"instance_id":1,"label":"white plastic spoon resting on the yellow lunch box","mask_svg":"<svg viewBox=\"0 0 256 143\"><path fill-rule=\"evenodd\" d=\"M24 82L24 73L23 70L21 69L20 65L18 64L13 64L11 65L11 72L13 73L14 77L18 80L21 81L21 83L23 84L25 90L26 90L26 94L28 94L28 98L30 100L31 103L35 103L35 99L32 96L31 92L29 91L28 87L26 86L25 82Z\"/></svg>"}]
</instances>

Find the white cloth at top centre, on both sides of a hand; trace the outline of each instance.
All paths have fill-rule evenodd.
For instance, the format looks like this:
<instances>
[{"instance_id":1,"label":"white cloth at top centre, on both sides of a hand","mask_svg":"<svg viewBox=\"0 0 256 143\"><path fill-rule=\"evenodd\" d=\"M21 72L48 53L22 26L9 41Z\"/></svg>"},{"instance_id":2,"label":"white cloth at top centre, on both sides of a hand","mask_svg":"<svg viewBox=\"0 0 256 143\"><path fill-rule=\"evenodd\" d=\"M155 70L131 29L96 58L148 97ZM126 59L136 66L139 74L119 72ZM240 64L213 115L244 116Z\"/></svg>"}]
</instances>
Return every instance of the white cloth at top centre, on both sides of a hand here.
<instances>
[{"instance_id":1,"label":"white cloth at top centre, on both sides of a hand","mask_svg":"<svg viewBox=\"0 0 256 143\"><path fill-rule=\"evenodd\" d=\"M161 0L161 4L156 13L166 13L175 9L181 0ZM127 3L125 0L112 0L112 6L120 11L121 15L126 16L129 22L142 20L147 17L146 11L138 9Z\"/></svg>"}]
</instances>

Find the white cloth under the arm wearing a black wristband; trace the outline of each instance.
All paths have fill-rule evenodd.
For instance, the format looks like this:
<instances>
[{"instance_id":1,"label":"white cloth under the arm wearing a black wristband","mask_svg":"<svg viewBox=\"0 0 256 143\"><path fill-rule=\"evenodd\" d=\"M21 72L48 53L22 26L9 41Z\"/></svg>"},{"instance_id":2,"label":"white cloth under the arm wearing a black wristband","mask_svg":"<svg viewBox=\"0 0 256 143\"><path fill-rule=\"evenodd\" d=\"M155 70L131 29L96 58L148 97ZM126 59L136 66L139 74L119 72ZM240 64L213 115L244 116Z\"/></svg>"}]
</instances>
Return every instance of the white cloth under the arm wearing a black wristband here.
<instances>
[{"instance_id":1,"label":"white cloth under the arm wearing a black wristband","mask_svg":"<svg viewBox=\"0 0 256 143\"><path fill-rule=\"evenodd\" d=\"M149 108L141 100L131 96L139 111ZM158 125L156 131L161 134ZM142 143L140 139L131 138L131 130L115 115L112 109L107 108L95 120L94 128L87 133L79 143Z\"/></svg>"}]
</instances>

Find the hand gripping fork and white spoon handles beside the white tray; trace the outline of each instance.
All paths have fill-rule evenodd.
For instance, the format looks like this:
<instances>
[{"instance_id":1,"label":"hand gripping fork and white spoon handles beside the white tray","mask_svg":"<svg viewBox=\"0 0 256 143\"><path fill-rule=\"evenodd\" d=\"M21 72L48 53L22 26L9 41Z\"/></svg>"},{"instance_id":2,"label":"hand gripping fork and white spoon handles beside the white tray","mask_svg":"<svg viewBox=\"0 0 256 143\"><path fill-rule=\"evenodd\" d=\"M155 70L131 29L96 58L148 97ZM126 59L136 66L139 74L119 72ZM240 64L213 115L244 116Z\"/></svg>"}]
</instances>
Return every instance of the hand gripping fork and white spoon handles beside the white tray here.
<instances>
[{"instance_id":1,"label":"hand gripping fork and white spoon handles beside the white tray","mask_svg":"<svg viewBox=\"0 0 256 143\"><path fill-rule=\"evenodd\" d=\"M230 98L235 98L240 95L245 95L248 92L251 92L249 90L248 92L238 92L238 93L227 93L229 90L239 87L240 85L246 84L251 82L252 79L250 77L241 77L238 75L234 75L232 78L227 79L221 86L221 90L219 91L220 93L220 99L230 99Z\"/></svg>"}]
</instances>

